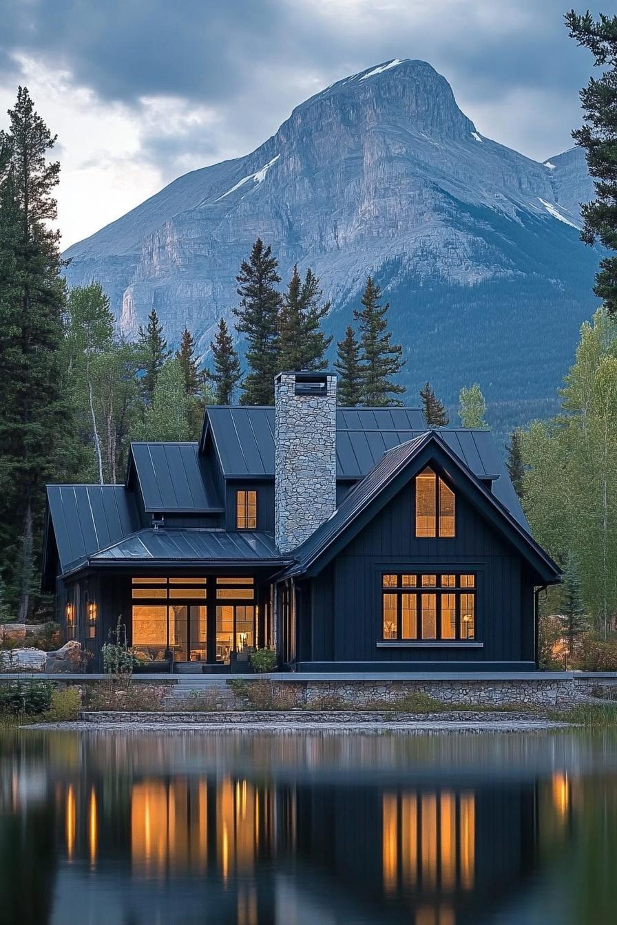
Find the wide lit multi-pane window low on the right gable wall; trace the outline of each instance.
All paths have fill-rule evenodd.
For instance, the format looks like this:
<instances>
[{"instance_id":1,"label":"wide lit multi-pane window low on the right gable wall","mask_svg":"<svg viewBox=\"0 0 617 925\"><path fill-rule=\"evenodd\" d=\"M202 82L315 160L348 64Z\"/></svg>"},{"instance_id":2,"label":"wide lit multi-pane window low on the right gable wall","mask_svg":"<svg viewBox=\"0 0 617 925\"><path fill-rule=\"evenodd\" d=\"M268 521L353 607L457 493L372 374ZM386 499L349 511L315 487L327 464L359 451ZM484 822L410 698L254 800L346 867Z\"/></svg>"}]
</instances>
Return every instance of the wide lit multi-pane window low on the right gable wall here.
<instances>
[{"instance_id":1,"label":"wide lit multi-pane window low on the right gable wall","mask_svg":"<svg viewBox=\"0 0 617 925\"><path fill-rule=\"evenodd\" d=\"M475 574L385 574L385 640L475 639Z\"/></svg>"}]
</instances>

